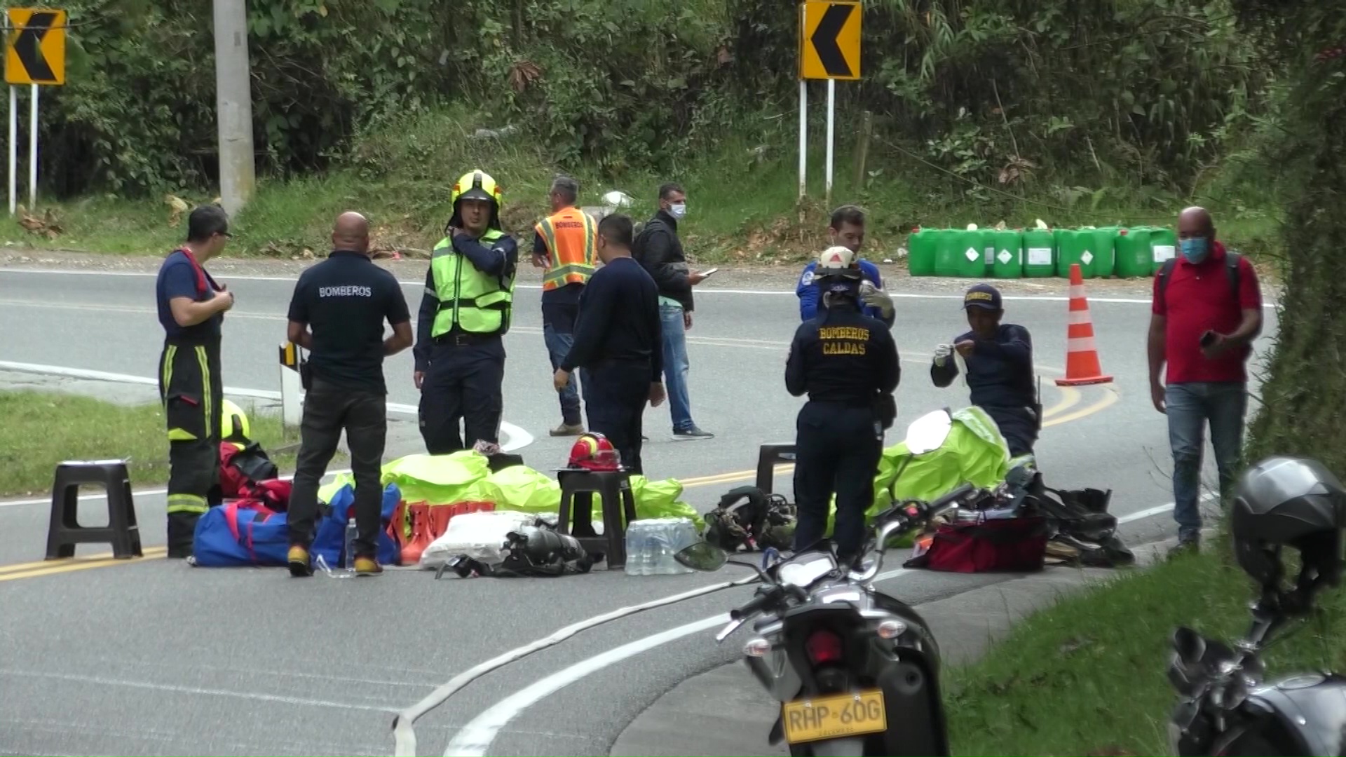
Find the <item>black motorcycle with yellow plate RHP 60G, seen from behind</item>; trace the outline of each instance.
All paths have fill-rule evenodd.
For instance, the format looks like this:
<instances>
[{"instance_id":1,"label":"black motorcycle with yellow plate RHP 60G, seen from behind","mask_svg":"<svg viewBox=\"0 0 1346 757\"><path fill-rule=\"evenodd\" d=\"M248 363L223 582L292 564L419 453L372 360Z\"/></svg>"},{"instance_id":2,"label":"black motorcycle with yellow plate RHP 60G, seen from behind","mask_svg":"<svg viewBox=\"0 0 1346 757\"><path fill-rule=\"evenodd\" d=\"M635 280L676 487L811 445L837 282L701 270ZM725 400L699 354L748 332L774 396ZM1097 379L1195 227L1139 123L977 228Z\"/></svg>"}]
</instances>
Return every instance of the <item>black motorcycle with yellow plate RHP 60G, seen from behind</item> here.
<instances>
[{"instance_id":1,"label":"black motorcycle with yellow plate RHP 60G, seen from behind","mask_svg":"<svg viewBox=\"0 0 1346 757\"><path fill-rule=\"evenodd\" d=\"M937 450L952 426L948 409L907 428L911 457ZM910 458L909 458L910 459ZM730 613L723 643L746 622L758 636L743 655L756 680L782 703L769 742L791 757L948 757L940 692L940 645L910 606L876 589L887 544L980 492L964 485L934 502L907 500L871 525L861 570L841 566L833 550L802 551L770 567L730 559L699 541L676 559L697 571L725 564L752 568L762 586Z\"/></svg>"}]
</instances>

